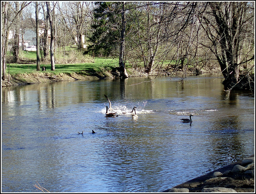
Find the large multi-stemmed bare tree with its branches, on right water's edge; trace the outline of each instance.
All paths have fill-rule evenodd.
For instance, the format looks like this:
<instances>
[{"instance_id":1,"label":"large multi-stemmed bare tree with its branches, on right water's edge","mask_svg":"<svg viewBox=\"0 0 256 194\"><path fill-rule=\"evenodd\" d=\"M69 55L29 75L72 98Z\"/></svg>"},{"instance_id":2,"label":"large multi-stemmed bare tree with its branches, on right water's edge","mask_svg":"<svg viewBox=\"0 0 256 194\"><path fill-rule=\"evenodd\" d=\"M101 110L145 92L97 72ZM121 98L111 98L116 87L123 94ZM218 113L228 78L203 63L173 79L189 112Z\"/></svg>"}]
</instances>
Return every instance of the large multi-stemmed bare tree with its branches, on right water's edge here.
<instances>
[{"instance_id":1,"label":"large multi-stemmed bare tree with its branches, on right water's edge","mask_svg":"<svg viewBox=\"0 0 256 194\"><path fill-rule=\"evenodd\" d=\"M225 79L223 84L226 89L232 89L240 81L239 66L254 60L254 46L245 53L242 49L246 38L254 36L252 32L255 21L251 5L249 2L201 4L203 12L198 20L211 43L203 46L215 55Z\"/></svg>"}]
</instances>

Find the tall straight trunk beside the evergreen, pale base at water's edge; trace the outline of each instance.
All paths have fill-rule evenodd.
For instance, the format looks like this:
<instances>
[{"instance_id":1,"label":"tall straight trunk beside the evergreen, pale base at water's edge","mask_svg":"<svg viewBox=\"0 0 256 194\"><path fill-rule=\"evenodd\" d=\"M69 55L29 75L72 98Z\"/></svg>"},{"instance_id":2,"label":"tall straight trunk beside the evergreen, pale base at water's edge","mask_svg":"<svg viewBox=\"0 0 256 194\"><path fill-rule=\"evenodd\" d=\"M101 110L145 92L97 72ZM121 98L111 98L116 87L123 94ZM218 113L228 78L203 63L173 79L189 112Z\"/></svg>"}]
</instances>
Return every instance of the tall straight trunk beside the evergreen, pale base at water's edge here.
<instances>
[{"instance_id":1,"label":"tall straight trunk beside the evergreen, pale base at water's edge","mask_svg":"<svg viewBox=\"0 0 256 194\"><path fill-rule=\"evenodd\" d=\"M125 46L125 27L126 27L126 21L125 21L125 10L124 10L124 2L123 8L122 8L122 30L121 30L121 40L120 40L120 54L119 54L119 71L120 71L120 77L122 79L125 79L128 77L128 73L125 69L125 63L124 63L124 46Z\"/></svg>"}]
</instances>

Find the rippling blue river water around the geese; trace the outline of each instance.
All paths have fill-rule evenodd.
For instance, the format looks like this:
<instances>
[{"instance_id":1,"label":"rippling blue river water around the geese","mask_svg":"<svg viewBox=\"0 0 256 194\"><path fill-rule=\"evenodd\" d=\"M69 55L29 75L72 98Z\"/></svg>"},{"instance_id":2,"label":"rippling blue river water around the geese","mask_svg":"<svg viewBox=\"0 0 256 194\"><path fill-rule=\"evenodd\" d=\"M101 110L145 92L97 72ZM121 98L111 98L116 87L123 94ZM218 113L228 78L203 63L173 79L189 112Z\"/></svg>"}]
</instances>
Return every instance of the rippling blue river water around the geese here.
<instances>
[{"instance_id":1,"label":"rippling blue river water around the geese","mask_svg":"<svg viewBox=\"0 0 256 194\"><path fill-rule=\"evenodd\" d=\"M254 154L254 129L217 75L2 88L2 192L161 192Z\"/></svg>"}]
</instances>

